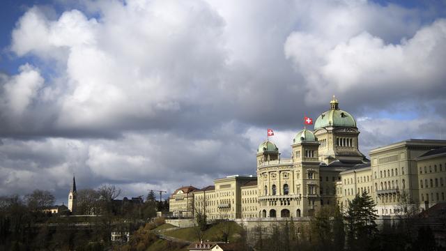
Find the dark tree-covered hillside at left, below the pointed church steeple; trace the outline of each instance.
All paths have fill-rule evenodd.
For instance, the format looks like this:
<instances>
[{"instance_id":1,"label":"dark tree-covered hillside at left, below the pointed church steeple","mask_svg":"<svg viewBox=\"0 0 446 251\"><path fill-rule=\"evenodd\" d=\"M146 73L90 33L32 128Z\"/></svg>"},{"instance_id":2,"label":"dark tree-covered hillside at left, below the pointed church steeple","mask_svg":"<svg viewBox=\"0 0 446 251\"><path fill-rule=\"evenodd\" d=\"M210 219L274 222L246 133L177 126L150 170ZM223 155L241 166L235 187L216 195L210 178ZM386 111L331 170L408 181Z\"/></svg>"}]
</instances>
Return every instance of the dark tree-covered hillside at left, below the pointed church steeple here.
<instances>
[{"instance_id":1,"label":"dark tree-covered hillside at left, below the pointed church steeple","mask_svg":"<svg viewBox=\"0 0 446 251\"><path fill-rule=\"evenodd\" d=\"M157 201L118 200L119 195L114 185L79 190L75 217L69 211L43 213L54 204L48 191L0 197L0 250L104 250L112 245L112 231L137 230L159 207Z\"/></svg>"}]
</instances>

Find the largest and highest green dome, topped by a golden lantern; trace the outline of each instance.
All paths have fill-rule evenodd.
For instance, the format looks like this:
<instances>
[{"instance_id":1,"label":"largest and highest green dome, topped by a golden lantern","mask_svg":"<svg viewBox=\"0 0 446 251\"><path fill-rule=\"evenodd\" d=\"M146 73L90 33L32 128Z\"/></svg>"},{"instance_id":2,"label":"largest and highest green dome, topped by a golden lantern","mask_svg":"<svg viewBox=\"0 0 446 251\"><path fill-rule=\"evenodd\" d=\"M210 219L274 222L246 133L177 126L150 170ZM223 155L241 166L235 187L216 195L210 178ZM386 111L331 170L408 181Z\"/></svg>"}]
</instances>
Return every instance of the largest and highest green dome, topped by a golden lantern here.
<instances>
[{"instance_id":1,"label":"largest and highest green dome, topped by a golden lantern","mask_svg":"<svg viewBox=\"0 0 446 251\"><path fill-rule=\"evenodd\" d=\"M330 102L330 110L318 116L314 123L314 130L325 126L347 126L356 127L356 121L353 116L338 107L339 102L334 99Z\"/></svg>"}]
</instances>

